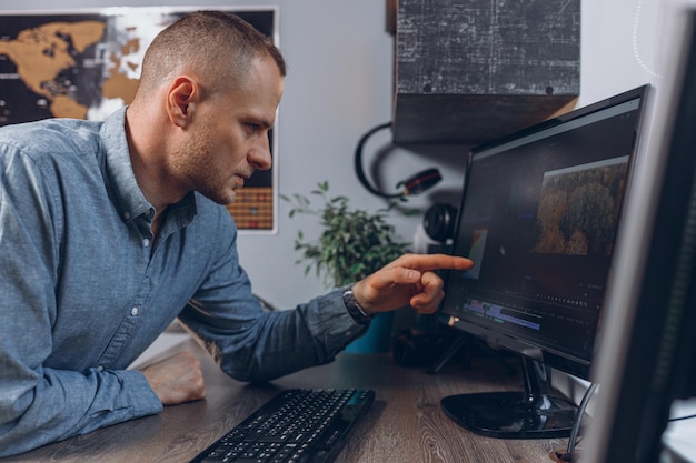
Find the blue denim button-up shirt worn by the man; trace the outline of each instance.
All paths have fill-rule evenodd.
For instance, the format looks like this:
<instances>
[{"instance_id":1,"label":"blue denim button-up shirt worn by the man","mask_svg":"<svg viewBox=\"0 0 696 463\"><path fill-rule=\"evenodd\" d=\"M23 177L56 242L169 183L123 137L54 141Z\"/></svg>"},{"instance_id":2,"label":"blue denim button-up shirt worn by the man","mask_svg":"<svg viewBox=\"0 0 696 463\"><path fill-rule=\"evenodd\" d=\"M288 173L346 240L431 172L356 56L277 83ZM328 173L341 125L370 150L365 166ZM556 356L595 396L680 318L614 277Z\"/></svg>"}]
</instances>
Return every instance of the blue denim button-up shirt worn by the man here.
<instances>
[{"instance_id":1,"label":"blue denim button-up shirt worn by the man","mask_svg":"<svg viewBox=\"0 0 696 463\"><path fill-rule=\"evenodd\" d=\"M158 413L127 366L175 319L238 380L332 360L362 326L331 292L266 313L227 210L191 193L157 243L125 110L0 129L0 456Z\"/></svg>"}]
</instances>

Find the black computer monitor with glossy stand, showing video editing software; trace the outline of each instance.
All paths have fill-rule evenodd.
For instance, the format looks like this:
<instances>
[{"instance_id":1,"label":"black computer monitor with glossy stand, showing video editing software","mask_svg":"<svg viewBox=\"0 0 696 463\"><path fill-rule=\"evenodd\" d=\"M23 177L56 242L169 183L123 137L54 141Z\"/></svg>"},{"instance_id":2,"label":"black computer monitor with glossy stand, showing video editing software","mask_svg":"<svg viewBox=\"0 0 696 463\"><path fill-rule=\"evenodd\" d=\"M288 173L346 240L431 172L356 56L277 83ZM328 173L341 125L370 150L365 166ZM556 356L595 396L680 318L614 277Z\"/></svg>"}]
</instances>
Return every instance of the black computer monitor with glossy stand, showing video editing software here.
<instances>
[{"instance_id":1,"label":"black computer monitor with glossy stand, showing video editing software","mask_svg":"<svg viewBox=\"0 0 696 463\"><path fill-rule=\"evenodd\" d=\"M525 390L444 397L479 434L568 436L547 366L588 379L647 85L470 151L439 319L520 354Z\"/></svg>"}]
</instances>

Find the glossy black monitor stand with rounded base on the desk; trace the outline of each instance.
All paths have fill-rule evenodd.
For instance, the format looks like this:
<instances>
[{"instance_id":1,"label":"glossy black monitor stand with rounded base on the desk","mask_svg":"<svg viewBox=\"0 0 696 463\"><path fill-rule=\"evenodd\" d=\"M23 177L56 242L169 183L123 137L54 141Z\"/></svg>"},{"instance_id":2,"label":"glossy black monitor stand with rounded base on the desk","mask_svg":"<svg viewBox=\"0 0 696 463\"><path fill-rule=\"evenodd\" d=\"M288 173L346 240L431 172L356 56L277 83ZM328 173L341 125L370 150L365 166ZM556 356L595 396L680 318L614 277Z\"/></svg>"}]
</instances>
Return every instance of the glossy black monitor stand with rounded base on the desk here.
<instances>
[{"instance_id":1,"label":"glossy black monitor stand with rounded base on the desk","mask_svg":"<svg viewBox=\"0 0 696 463\"><path fill-rule=\"evenodd\" d=\"M525 391L458 394L440 401L443 410L460 426L498 439L568 437L577 406L551 397L546 366L521 356Z\"/></svg>"}]
</instances>

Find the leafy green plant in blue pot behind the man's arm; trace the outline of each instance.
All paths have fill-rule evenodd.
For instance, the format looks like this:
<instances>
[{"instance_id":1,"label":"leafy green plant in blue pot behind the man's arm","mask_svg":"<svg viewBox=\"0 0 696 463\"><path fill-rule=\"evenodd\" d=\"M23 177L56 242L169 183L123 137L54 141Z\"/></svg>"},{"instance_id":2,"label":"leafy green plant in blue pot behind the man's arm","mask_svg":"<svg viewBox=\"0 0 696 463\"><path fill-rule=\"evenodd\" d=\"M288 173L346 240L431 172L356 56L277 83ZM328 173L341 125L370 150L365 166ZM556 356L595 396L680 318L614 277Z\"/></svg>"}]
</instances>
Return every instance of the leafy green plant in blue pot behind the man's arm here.
<instances>
[{"instance_id":1,"label":"leafy green plant in blue pot behind the man's arm","mask_svg":"<svg viewBox=\"0 0 696 463\"><path fill-rule=\"evenodd\" d=\"M314 215L319 220L322 232L316 241L306 239L301 230L295 240L295 250L301 253L298 263L306 262L305 273L312 268L321 275L327 288L339 288L359 281L381 269L401 255L408 243L400 241L394 225L387 217L397 205L390 202L375 212L351 208L349 199L344 195L329 197L328 181L320 182L311 195L318 197L319 205L301 194L280 198L292 208L289 217L296 214ZM348 346L348 351L384 351L389 343L392 312L380 313L372 322L367 334ZM387 333L378 334L380 329ZM377 338L377 339L374 339ZM386 339L385 339L386 338ZM376 341L378 346L368 346Z\"/></svg>"}]
</instances>

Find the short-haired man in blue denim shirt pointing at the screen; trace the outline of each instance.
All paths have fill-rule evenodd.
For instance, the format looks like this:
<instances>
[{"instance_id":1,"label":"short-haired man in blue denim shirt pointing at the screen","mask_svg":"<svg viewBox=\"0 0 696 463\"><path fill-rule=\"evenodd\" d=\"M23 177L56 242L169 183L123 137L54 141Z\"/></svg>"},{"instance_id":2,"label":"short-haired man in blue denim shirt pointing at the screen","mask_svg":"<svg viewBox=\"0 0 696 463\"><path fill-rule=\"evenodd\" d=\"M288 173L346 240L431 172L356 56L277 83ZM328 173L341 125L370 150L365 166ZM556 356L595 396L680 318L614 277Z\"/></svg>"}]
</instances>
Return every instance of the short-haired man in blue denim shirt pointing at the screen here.
<instances>
[{"instance_id":1,"label":"short-haired man in blue denim shirt pointing at the screen","mask_svg":"<svg viewBox=\"0 0 696 463\"><path fill-rule=\"evenodd\" d=\"M371 314L436 310L447 255L404 255L295 310L265 313L220 204L269 169L285 62L235 16L190 14L148 49L103 123L0 130L0 456L198 400L186 354L126 368L178 318L229 375L329 362Z\"/></svg>"}]
</instances>

